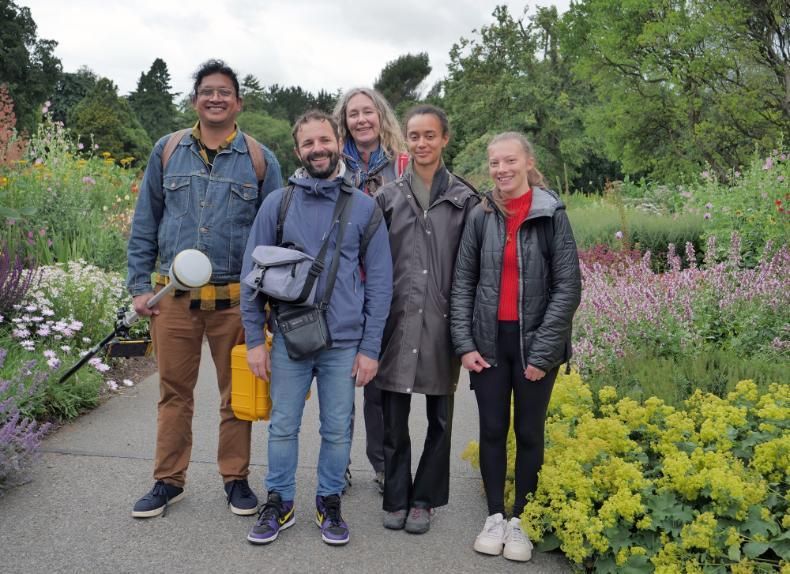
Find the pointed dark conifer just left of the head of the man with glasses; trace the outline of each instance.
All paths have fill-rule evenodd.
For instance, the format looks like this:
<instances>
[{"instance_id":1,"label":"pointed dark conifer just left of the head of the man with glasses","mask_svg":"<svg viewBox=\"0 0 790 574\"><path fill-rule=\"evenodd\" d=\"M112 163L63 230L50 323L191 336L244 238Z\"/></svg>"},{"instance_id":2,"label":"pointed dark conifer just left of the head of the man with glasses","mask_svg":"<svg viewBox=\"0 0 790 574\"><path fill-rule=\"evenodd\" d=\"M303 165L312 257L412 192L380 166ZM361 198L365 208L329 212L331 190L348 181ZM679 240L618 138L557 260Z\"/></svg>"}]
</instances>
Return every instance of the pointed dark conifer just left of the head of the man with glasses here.
<instances>
[{"instance_id":1,"label":"pointed dark conifer just left of the head of the man with glasses","mask_svg":"<svg viewBox=\"0 0 790 574\"><path fill-rule=\"evenodd\" d=\"M157 58L148 72L140 74L137 89L129 94L129 105L151 141L176 129L177 110L170 89L167 64Z\"/></svg>"}]
</instances>

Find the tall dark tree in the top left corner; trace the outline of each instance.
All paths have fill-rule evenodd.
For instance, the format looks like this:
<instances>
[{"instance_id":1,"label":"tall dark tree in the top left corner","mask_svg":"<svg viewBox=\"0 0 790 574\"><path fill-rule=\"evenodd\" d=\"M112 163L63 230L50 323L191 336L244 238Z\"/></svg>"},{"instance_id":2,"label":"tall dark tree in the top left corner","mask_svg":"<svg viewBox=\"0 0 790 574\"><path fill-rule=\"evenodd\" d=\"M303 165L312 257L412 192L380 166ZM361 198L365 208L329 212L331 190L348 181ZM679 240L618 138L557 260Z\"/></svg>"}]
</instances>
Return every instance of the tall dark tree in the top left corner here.
<instances>
[{"instance_id":1,"label":"tall dark tree in the top left corner","mask_svg":"<svg viewBox=\"0 0 790 574\"><path fill-rule=\"evenodd\" d=\"M54 40L39 39L30 9L0 0L0 83L14 100L17 129L32 131L61 71Z\"/></svg>"}]
</instances>

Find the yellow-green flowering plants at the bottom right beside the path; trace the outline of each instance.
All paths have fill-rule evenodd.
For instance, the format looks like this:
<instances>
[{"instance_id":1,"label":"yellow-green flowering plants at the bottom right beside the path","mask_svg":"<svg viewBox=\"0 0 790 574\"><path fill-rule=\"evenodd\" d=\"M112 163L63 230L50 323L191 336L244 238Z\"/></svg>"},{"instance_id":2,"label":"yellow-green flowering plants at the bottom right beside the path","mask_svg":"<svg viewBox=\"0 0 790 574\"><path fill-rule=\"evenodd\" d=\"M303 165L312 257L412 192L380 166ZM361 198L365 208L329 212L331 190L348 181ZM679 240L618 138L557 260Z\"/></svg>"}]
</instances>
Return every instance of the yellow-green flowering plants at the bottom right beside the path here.
<instances>
[{"instance_id":1,"label":"yellow-green flowering plants at the bottom right beside the path","mask_svg":"<svg viewBox=\"0 0 790 574\"><path fill-rule=\"evenodd\" d=\"M522 515L538 549L596 572L790 568L789 385L760 394L746 380L726 398L698 391L674 408L561 375L546 436ZM464 457L477 466L476 443Z\"/></svg>"}]
</instances>

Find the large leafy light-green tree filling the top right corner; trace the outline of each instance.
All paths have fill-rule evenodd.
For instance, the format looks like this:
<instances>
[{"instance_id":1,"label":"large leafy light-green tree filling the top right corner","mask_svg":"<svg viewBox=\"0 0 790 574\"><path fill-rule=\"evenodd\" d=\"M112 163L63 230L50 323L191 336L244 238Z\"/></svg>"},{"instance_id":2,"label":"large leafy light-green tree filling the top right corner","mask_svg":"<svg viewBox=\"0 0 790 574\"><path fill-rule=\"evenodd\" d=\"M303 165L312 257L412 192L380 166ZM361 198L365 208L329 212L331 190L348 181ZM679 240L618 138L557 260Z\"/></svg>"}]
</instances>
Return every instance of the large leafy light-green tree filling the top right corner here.
<instances>
[{"instance_id":1,"label":"large leafy light-green tree filling the top right corner","mask_svg":"<svg viewBox=\"0 0 790 574\"><path fill-rule=\"evenodd\" d=\"M745 163L755 144L775 145L790 133L783 111L788 24L773 20L787 12L780 4L574 3L565 15L563 53L595 89L589 133L627 173L661 179L704 164L726 173Z\"/></svg>"}]
</instances>

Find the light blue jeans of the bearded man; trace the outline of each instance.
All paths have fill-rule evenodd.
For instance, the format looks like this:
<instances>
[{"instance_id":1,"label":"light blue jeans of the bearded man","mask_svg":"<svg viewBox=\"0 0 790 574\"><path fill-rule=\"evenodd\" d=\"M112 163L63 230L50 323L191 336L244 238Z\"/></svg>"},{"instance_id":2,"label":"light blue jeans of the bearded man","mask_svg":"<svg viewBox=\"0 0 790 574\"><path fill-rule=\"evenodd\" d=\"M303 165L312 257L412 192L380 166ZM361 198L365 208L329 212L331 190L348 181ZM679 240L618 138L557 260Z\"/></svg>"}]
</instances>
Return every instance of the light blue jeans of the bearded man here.
<instances>
[{"instance_id":1,"label":"light blue jeans of the bearded man","mask_svg":"<svg viewBox=\"0 0 790 574\"><path fill-rule=\"evenodd\" d=\"M351 370L356 355L356 347L327 349L310 359L294 361L285 350L282 336L275 333L271 355L272 412L266 489L279 493L283 500L293 500L296 495L299 427L304 398L314 374L321 422L317 494L328 496L343 491L351 454L351 411L354 405Z\"/></svg>"}]
</instances>

